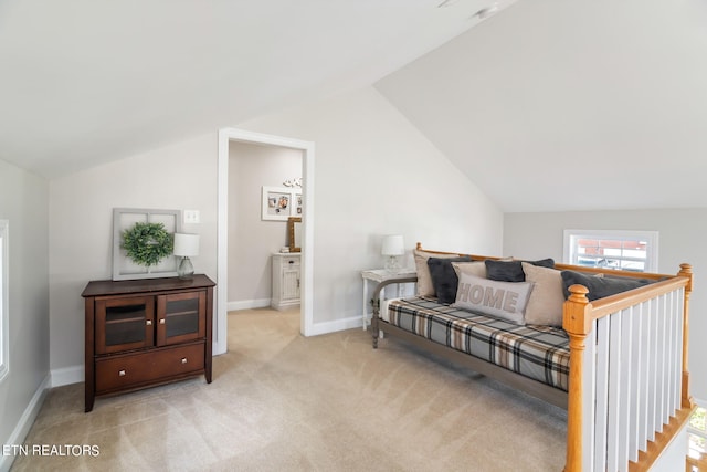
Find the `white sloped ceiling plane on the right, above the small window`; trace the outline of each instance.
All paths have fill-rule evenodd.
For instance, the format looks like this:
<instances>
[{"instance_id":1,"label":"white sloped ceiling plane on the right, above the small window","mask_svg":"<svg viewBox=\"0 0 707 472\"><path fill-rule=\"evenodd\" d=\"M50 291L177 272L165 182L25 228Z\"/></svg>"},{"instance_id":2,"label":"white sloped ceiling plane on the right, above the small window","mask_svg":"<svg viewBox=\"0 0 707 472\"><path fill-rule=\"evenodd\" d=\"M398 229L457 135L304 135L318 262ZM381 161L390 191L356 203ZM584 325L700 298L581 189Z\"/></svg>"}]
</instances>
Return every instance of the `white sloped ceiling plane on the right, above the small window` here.
<instances>
[{"instance_id":1,"label":"white sloped ceiling plane on the right, above the small window","mask_svg":"<svg viewBox=\"0 0 707 472\"><path fill-rule=\"evenodd\" d=\"M705 1L521 1L377 87L506 212L707 207Z\"/></svg>"}]
</instances>

